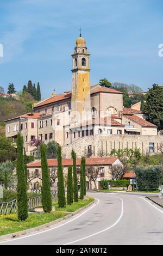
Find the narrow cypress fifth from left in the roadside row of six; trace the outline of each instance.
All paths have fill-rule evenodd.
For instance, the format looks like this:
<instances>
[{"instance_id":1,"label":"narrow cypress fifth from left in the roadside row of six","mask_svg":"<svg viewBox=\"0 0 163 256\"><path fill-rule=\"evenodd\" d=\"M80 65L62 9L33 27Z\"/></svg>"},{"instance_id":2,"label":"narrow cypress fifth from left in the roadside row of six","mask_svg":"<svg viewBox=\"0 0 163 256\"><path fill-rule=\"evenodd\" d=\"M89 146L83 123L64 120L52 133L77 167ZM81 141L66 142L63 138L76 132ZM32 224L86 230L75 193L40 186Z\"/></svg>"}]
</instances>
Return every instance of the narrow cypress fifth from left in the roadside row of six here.
<instances>
[{"instance_id":1,"label":"narrow cypress fifth from left in the roadside row of six","mask_svg":"<svg viewBox=\"0 0 163 256\"><path fill-rule=\"evenodd\" d=\"M74 150L71 152L73 159L73 197L74 202L78 202L78 177L77 177L77 167L76 167L76 153Z\"/></svg>"}]
</instances>

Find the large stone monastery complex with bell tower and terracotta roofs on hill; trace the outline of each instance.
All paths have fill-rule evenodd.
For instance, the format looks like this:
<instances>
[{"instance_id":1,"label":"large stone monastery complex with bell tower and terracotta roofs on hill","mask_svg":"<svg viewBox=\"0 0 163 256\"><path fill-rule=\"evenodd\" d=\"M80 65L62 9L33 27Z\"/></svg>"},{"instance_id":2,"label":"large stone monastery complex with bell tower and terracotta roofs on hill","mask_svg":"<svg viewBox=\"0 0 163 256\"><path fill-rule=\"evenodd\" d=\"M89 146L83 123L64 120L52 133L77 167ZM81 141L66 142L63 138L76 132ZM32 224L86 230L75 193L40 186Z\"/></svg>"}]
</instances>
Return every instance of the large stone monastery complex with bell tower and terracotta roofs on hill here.
<instances>
[{"instance_id":1,"label":"large stone monastery complex with bell tower and terracotta roofs on hill","mask_svg":"<svg viewBox=\"0 0 163 256\"><path fill-rule=\"evenodd\" d=\"M5 134L24 138L24 153L34 154L31 142L53 140L66 157L74 148L81 157L99 156L111 149L139 148L143 154L159 153L163 137L140 110L123 107L123 93L99 84L90 86L90 54L82 36L72 54L72 90L53 93L33 106L33 113L6 121Z\"/></svg>"}]
</instances>

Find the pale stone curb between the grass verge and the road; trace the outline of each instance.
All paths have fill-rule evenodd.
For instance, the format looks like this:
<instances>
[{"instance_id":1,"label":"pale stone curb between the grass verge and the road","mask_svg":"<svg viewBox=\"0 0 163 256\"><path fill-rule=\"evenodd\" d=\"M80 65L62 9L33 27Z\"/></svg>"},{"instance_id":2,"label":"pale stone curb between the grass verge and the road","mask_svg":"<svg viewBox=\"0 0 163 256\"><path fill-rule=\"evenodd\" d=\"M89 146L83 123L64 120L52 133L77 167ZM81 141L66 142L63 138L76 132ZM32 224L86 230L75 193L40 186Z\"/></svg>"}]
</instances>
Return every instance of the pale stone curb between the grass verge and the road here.
<instances>
[{"instance_id":1,"label":"pale stone curb between the grass verge and the road","mask_svg":"<svg viewBox=\"0 0 163 256\"><path fill-rule=\"evenodd\" d=\"M8 239L12 239L12 238L14 239L15 237L31 234L31 233L34 233L36 231L40 231L40 230L52 227L55 224L58 224L58 223L60 223L60 222L62 222L64 220L67 220L68 218L71 218L72 216L78 214L80 211L83 211L84 209L89 208L92 204L97 204L97 202L98 202L98 200L95 199L90 204L88 204L88 205L78 209L77 211L72 212L71 214L68 214L65 217L59 218L58 220L55 220L55 221L52 221L52 222L45 223L45 224L37 226L35 228L29 228L29 229L26 229L26 230L15 232L15 233L10 233L10 234L7 234L7 235L2 235L2 236L0 236L0 241L5 241L5 240L8 240Z\"/></svg>"}]
</instances>

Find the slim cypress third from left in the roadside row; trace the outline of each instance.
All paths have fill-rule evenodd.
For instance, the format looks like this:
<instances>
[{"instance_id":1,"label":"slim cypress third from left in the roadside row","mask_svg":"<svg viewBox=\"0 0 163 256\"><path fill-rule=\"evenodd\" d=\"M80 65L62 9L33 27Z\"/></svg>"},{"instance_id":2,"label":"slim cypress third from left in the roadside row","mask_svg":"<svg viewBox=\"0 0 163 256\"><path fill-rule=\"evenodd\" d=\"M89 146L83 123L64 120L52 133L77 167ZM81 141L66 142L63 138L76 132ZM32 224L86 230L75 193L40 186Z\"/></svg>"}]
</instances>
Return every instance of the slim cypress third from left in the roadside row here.
<instances>
[{"instance_id":1,"label":"slim cypress third from left in the roadside row","mask_svg":"<svg viewBox=\"0 0 163 256\"><path fill-rule=\"evenodd\" d=\"M64 173L62 168L62 156L61 156L60 146L58 146L57 155L58 155L58 205L59 207L64 208L66 206L66 198L65 198Z\"/></svg>"}]
</instances>

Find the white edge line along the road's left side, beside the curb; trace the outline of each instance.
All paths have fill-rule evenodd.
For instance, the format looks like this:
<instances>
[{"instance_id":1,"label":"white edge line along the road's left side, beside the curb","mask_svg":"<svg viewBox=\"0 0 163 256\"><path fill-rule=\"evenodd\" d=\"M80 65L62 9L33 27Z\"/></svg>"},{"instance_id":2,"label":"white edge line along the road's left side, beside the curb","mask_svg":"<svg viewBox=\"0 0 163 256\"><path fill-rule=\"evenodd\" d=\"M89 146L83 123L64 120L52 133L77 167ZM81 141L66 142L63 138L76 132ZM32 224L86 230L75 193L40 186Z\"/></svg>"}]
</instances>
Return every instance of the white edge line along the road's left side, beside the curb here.
<instances>
[{"instance_id":1,"label":"white edge line along the road's left side, beside the curb","mask_svg":"<svg viewBox=\"0 0 163 256\"><path fill-rule=\"evenodd\" d=\"M95 198L96 199L96 198ZM99 203L99 199L97 198L97 203L96 204L93 204L89 209L85 210L84 212L82 212L82 214L78 215L77 217L75 218L72 218L72 220L70 221L67 221L65 223L62 223L60 225L58 225L57 227L53 227L53 228L49 228L49 229L46 229L46 230L43 230L43 231L40 231L40 232L37 232L37 233L34 233L34 234L30 234L30 235L24 235L24 236L21 236L21 237L17 237L17 238L12 238L10 240L4 240L0 243L7 243L7 242L13 242L13 241L16 241L16 240L20 240L20 239L24 239L24 238L27 238L27 237L30 237L30 236L34 236L34 235L40 235L40 234L43 234L45 232L48 232L48 231L51 231L53 229L57 229L57 228L60 228L62 227L63 225L66 225L74 220L77 220L77 218L81 217L82 215L84 215L87 211L91 210L93 207L95 207L98 203Z\"/></svg>"}]
</instances>

